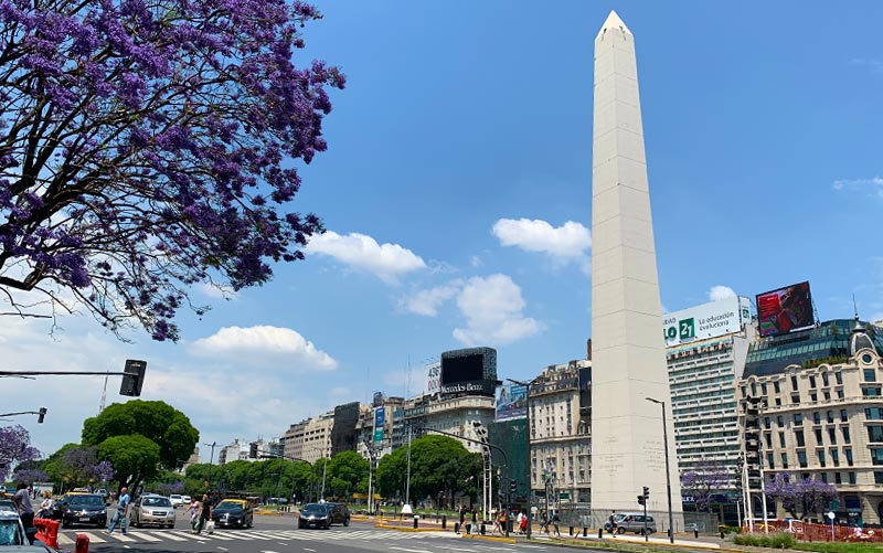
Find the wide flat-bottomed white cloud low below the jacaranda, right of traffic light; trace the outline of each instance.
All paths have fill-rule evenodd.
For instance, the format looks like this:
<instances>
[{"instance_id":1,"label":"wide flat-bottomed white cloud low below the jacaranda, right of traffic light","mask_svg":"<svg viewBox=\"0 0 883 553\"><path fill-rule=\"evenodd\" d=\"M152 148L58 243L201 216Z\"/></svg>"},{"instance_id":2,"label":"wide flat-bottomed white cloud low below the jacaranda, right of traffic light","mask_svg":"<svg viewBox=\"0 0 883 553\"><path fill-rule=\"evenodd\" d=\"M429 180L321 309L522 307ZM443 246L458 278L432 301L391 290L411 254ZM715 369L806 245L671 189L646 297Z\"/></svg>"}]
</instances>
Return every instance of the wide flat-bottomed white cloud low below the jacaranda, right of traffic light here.
<instances>
[{"instance_id":1,"label":"wide flat-bottomed white cloud low below the jacaranda, right of traffic light","mask_svg":"<svg viewBox=\"0 0 883 553\"><path fill-rule=\"evenodd\" d=\"M227 363L266 368L329 371L338 365L331 355L316 349L298 332L279 327L222 328L209 338L194 341L190 350L195 355Z\"/></svg>"}]
</instances>

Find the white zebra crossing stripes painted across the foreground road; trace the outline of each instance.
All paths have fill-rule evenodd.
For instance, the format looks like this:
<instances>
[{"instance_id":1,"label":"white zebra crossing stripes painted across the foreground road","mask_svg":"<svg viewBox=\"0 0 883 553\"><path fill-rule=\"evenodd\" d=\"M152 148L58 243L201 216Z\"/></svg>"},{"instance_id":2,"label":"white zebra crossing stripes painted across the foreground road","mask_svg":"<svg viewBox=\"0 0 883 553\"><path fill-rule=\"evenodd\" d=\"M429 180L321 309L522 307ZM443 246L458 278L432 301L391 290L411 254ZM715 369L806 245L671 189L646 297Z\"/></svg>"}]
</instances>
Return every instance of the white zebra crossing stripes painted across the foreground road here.
<instances>
[{"instance_id":1,"label":"white zebra crossing stripes painted across the foreground road","mask_svg":"<svg viewBox=\"0 0 883 553\"><path fill-rule=\"evenodd\" d=\"M308 530L308 529L283 529L283 530L215 530L209 534L202 532L194 534L190 530L139 530L129 531L126 534L121 532L114 532L108 534L103 531L76 531L71 530L58 533L58 545L71 546L74 545L76 534L85 534L89 539L89 543L158 543L162 541L171 542L198 542L206 543L215 542L233 542L233 541L272 541L272 540L289 540L289 541L334 541L334 540L419 540L437 536L450 536L449 532L391 532L389 530L354 530L354 529L340 529L340 530Z\"/></svg>"}]
</instances>

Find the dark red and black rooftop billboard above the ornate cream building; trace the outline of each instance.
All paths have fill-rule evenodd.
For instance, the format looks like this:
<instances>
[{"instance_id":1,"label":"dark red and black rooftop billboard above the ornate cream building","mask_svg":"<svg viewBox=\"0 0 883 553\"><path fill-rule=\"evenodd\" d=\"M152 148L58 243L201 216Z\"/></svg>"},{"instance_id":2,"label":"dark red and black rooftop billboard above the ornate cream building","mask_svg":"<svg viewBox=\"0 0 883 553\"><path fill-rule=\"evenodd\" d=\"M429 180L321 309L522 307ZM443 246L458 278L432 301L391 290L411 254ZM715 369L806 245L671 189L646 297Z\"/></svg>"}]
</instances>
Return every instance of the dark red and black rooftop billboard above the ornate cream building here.
<instances>
[{"instance_id":1,"label":"dark red and black rooftop billboard above the ornate cream building","mask_svg":"<svg viewBox=\"0 0 883 553\"><path fill-rule=\"evenodd\" d=\"M809 281L758 294L757 322L762 337L786 334L815 325Z\"/></svg>"}]
</instances>

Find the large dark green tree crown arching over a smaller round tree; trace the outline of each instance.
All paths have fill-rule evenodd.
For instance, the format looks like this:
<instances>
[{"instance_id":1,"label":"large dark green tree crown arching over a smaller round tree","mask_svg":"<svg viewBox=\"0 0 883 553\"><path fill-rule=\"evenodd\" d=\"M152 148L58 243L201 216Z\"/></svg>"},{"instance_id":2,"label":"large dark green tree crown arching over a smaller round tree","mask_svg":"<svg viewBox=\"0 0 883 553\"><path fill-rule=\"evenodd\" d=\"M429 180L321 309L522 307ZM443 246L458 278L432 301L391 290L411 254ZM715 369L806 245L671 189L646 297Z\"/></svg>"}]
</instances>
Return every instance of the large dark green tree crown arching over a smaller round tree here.
<instances>
[{"instance_id":1,"label":"large dark green tree crown arching over a smaller round tree","mask_svg":"<svg viewBox=\"0 0 883 553\"><path fill-rule=\"evenodd\" d=\"M159 462L169 470L173 470L180 459L190 457L200 438L187 415L166 402L115 403L83 423L83 445L87 446L100 446L110 437L132 435L157 444Z\"/></svg>"}]
</instances>

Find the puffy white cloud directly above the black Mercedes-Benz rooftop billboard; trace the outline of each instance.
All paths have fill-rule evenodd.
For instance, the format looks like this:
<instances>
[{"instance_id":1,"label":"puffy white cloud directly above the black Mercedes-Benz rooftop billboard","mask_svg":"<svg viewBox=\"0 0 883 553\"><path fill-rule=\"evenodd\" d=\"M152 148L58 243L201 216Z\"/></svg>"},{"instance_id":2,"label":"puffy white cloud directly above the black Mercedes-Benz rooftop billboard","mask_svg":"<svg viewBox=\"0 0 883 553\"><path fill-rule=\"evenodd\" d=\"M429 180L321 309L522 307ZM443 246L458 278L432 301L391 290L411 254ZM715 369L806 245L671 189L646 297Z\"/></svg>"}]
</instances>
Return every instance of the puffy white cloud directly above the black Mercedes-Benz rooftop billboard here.
<instances>
[{"instance_id":1,"label":"puffy white cloud directly above the black Mercedes-Benz rooftop billboard","mask_svg":"<svg viewBox=\"0 0 883 553\"><path fill-rule=\"evenodd\" d=\"M467 327L455 329L454 338L466 345L511 343L542 330L539 321L522 313L526 304L521 288L507 275L470 278L457 307Z\"/></svg>"}]
</instances>

